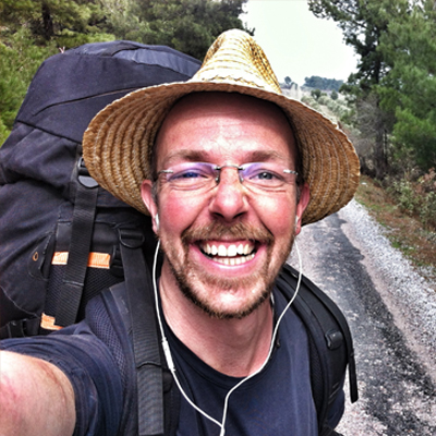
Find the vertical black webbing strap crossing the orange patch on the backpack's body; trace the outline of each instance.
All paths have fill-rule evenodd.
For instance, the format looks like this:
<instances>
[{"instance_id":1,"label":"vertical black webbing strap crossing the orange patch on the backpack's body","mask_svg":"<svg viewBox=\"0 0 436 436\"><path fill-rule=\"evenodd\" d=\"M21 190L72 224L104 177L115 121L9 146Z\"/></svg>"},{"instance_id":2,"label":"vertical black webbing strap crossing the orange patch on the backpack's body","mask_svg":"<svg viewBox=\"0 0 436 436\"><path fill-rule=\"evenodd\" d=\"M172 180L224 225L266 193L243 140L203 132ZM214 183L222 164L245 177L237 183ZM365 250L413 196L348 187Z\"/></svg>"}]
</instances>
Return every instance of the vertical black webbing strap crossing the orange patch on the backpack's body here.
<instances>
[{"instance_id":1,"label":"vertical black webbing strap crossing the orange patch on the backpack's body","mask_svg":"<svg viewBox=\"0 0 436 436\"><path fill-rule=\"evenodd\" d=\"M77 172L74 173L77 174L77 182L69 258L55 314L56 324L62 327L74 324L77 318L97 209L98 184L87 172L82 157L77 160L76 170Z\"/></svg>"}]
</instances>

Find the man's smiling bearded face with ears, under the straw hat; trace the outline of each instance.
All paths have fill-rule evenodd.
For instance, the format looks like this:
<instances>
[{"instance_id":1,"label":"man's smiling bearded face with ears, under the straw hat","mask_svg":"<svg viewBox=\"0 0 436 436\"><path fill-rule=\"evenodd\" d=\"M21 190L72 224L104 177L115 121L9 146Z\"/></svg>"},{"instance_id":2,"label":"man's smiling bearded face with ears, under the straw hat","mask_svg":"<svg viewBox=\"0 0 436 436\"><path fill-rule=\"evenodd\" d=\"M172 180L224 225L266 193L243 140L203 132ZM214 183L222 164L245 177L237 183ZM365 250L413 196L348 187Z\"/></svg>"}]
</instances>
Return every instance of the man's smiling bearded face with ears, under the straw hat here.
<instances>
[{"instance_id":1,"label":"man's smiling bearded face with ears, under the straw hat","mask_svg":"<svg viewBox=\"0 0 436 436\"><path fill-rule=\"evenodd\" d=\"M156 150L157 171L193 161L295 170L294 138L282 112L237 94L184 98L166 118ZM295 177L290 180L274 191L252 190L226 167L218 184L191 191L161 174L157 205L145 181L144 202L153 217L159 214L162 286L181 290L215 317L252 313L268 298L292 247L295 213L301 217L308 202L304 186L296 205Z\"/></svg>"}]
</instances>

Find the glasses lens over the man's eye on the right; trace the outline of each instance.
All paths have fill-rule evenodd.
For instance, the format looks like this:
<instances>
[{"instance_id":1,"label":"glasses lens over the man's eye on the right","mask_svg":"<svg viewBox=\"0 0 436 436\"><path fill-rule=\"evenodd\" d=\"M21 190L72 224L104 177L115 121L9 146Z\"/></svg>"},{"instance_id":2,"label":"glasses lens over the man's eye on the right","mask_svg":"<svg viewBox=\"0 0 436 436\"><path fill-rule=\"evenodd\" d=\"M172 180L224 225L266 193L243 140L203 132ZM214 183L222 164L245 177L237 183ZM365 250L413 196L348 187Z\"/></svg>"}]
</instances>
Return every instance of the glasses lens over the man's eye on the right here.
<instances>
[{"instance_id":1,"label":"glasses lens over the man's eye on the right","mask_svg":"<svg viewBox=\"0 0 436 436\"><path fill-rule=\"evenodd\" d=\"M265 190L274 190L292 182L292 174L284 172L286 168L278 164L255 162L242 166L243 182Z\"/></svg>"}]
</instances>

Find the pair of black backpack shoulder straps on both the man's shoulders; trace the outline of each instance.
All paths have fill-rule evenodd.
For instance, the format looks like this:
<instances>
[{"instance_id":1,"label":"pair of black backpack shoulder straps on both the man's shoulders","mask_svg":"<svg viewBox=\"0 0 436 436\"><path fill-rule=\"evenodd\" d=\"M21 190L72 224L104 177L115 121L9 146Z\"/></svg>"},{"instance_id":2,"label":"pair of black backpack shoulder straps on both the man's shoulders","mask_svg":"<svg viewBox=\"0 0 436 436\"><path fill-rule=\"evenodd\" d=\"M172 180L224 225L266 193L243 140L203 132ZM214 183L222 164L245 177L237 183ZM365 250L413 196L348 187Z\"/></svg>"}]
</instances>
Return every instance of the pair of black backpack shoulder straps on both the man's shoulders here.
<instances>
[{"instance_id":1,"label":"pair of black backpack shoulder straps on both the man's shoulders","mask_svg":"<svg viewBox=\"0 0 436 436\"><path fill-rule=\"evenodd\" d=\"M135 259L129 263L132 267ZM99 301L109 313L105 323L110 323L121 337L120 324L131 331L136 365L137 386L137 435L174 435L178 423L180 393L172 382L164 352L156 319L153 284L148 268L134 268L126 280L111 287L99 295ZM135 277L133 277L135 276ZM281 269L276 284L289 301L296 289L299 272L289 265ZM136 286L141 283L140 286ZM97 302L95 301L96 305ZM328 413L341 393L347 367L349 372L350 400L359 398L354 350L348 323L339 307L306 277L302 276L299 293L292 303L306 327L311 385L318 421L319 436L338 435L328 425ZM98 311L101 313L101 311ZM123 323L118 319L122 318ZM108 320L110 319L110 320ZM144 323L147 319L147 323ZM101 323L101 320L100 320ZM98 328L100 330L100 328ZM124 331L125 331L124 330ZM144 340L147 338L147 340ZM117 349L117 348L116 348ZM119 352L116 351L114 354ZM131 415L134 419L135 415ZM123 428L123 436L135 436L132 423ZM135 426L133 426L134 428Z\"/></svg>"}]
</instances>

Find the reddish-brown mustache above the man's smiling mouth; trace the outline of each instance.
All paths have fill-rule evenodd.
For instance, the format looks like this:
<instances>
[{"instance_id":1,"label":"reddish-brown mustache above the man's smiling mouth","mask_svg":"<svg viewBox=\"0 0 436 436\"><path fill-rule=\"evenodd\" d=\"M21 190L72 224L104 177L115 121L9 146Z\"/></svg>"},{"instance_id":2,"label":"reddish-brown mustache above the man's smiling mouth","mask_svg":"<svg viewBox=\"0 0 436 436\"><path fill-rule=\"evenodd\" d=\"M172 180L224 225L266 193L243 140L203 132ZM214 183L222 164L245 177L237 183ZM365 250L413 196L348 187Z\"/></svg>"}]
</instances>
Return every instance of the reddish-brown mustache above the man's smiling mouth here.
<instances>
[{"instance_id":1,"label":"reddish-brown mustache above the man's smiling mouth","mask_svg":"<svg viewBox=\"0 0 436 436\"><path fill-rule=\"evenodd\" d=\"M219 240L223 238L258 241L267 245L274 243L271 232L264 226L252 226L245 222L225 225L220 221L214 221L205 227L189 228L182 232L181 238L183 244L190 244L198 240Z\"/></svg>"}]
</instances>

